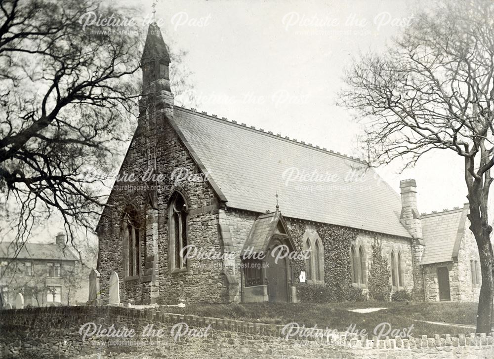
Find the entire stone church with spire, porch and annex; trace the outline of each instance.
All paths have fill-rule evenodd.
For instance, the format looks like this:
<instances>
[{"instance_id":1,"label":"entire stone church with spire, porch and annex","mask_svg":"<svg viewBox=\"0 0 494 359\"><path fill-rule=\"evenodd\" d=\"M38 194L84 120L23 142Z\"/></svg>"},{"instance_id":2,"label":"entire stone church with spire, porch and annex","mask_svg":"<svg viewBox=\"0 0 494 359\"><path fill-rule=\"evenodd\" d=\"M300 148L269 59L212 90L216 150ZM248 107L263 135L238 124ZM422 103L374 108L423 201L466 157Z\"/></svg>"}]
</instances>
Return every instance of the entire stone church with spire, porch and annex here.
<instances>
[{"instance_id":1,"label":"entire stone church with spire, porch and annex","mask_svg":"<svg viewBox=\"0 0 494 359\"><path fill-rule=\"evenodd\" d=\"M413 179L397 194L362 160L177 107L169 64L151 24L138 126L96 229L104 304L112 272L124 303L368 297L376 248L391 294L476 299L468 206L420 215Z\"/></svg>"}]
</instances>

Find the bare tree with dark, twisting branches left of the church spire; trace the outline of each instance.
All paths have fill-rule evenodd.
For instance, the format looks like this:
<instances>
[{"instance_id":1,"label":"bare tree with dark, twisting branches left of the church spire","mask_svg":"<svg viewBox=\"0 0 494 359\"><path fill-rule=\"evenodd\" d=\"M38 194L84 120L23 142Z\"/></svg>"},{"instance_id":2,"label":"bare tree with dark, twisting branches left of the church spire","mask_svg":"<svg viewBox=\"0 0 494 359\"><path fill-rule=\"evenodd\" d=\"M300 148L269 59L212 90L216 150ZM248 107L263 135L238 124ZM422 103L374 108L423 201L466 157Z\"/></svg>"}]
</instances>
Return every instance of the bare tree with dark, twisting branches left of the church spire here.
<instances>
[{"instance_id":1,"label":"bare tree with dark, twisting branches left of the church spire","mask_svg":"<svg viewBox=\"0 0 494 359\"><path fill-rule=\"evenodd\" d=\"M10 212L16 241L41 213L58 212L70 238L73 224L89 226L101 204L94 184L103 176L82 174L107 173L118 142L128 138L139 32L83 29L87 13L123 17L99 2L0 4L0 194L17 208Z\"/></svg>"}]
</instances>

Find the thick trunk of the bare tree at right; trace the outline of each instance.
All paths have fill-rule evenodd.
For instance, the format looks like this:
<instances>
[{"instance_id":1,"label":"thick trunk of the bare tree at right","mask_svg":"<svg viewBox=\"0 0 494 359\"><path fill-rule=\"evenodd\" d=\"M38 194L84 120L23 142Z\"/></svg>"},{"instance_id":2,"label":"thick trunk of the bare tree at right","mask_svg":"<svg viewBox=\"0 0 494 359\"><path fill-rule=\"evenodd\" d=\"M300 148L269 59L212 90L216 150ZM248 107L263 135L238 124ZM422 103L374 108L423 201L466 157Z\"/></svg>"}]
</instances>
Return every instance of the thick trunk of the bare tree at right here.
<instances>
[{"instance_id":1,"label":"thick trunk of the bare tree at right","mask_svg":"<svg viewBox=\"0 0 494 359\"><path fill-rule=\"evenodd\" d=\"M473 212L473 213L472 213ZM478 209L470 208L470 230L475 236L479 248L482 286L480 287L479 307L477 309L477 333L490 333L494 299L494 254L491 244L491 226L480 218Z\"/></svg>"}]
</instances>

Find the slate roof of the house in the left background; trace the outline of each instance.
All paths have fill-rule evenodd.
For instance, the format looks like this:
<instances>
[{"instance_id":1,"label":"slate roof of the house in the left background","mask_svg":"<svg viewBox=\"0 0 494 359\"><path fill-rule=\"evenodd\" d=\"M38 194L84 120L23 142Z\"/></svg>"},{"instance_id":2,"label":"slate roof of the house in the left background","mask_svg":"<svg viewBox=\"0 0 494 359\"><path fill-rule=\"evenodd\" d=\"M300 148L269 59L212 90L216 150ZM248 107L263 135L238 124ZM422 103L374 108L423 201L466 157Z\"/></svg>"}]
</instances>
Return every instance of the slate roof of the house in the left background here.
<instances>
[{"instance_id":1,"label":"slate roof of the house in the left background","mask_svg":"<svg viewBox=\"0 0 494 359\"><path fill-rule=\"evenodd\" d=\"M25 243L21 248L18 259L51 259L71 260L78 258L68 247L56 243ZM14 242L0 242L0 258L12 258L16 253L17 245Z\"/></svg>"}]
</instances>

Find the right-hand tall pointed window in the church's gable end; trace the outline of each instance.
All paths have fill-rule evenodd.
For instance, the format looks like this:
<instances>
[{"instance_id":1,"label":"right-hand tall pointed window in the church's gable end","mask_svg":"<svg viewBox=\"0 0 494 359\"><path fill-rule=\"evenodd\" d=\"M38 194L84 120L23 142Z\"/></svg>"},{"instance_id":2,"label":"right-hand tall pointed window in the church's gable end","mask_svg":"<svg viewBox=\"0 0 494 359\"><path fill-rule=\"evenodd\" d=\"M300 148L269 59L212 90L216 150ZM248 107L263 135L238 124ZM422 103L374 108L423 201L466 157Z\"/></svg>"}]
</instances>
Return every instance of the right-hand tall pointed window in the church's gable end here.
<instances>
[{"instance_id":1,"label":"right-hand tall pointed window in the church's gable end","mask_svg":"<svg viewBox=\"0 0 494 359\"><path fill-rule=\"evenodd\" d=\"M183 248L187 246L187 205L181 194L172 197L168 212L170 268L172 271L187 270L187 259L183 258Z\"/></svg>"}]
</instances>

